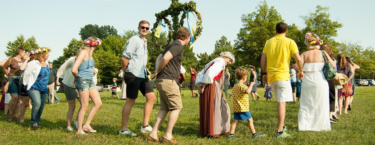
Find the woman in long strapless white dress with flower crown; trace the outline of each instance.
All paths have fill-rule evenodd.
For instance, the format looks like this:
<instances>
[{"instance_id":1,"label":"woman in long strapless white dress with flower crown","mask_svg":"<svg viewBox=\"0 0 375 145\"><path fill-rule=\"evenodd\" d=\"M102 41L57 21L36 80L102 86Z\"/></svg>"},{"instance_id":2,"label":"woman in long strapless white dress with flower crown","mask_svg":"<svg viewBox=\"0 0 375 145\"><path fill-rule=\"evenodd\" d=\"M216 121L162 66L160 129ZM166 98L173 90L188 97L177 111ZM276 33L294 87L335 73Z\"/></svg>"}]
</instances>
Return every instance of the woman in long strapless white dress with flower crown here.
<instances>
[{"instance_id":1,"label":"woman in long strapless white dress with flower crown","mask_svg":"<svg viewBox=\"0 0 375 145\"><path fill-rule=\"evenodd\" d=\"M300 110L298 112L298 129L301 131L331 130L329 118L329 87L323 74L323 55L320 44L323 43L316 34L307 33L305 44L308 51L301 54L305 76L302 79ZM335 62L329 62L335 67Z\"/></svg>"}]
</instances>

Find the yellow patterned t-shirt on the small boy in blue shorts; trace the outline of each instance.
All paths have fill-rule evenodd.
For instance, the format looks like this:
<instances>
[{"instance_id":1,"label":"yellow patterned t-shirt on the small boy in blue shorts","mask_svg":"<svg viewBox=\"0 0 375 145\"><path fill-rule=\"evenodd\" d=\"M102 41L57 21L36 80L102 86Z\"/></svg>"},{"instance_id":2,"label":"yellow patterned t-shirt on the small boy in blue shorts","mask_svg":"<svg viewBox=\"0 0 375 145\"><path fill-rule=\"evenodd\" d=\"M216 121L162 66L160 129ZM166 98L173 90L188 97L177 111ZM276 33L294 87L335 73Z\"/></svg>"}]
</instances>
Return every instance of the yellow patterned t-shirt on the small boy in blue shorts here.
<instances>
[{"instance_id":1,"label":"yellow patterned t-shirt on the small boy in blue shorts","mask_svg":"<svg viewBox=\"0 0 375 145\"><path fill-rule=\"evenodd\" d=\"M246 90L249 87L243 83L237 83L232 88L233 112L248 112L249 110L249 94Z\"/></svg>"}]
</instances>

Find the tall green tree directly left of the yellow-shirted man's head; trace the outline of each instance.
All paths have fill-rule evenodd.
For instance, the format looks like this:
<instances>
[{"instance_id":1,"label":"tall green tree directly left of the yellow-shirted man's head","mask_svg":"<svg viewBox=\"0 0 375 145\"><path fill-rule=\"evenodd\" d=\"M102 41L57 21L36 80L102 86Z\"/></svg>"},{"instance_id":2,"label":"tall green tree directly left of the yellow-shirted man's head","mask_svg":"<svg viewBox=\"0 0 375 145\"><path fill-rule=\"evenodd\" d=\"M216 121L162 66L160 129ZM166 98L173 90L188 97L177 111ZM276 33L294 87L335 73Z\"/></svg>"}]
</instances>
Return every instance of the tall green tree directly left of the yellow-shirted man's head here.
<instances>
[{"instance_id":1,"label":"tall green tree directly left of the yellow-shirted man's head","mask_svg":"<svg viewBox=\"0 0 375 145\"><path fill-rule=\"evenodd\" d=\"M275 26L284 21L280 13L266 1L256 7L256 12L242 15L243 28L237 34L234 49L240 64L251 64L260 67L260 58L266 41L275 36ZM251 55L249 55L251 54Z\"/></svg>"}]
</instances>

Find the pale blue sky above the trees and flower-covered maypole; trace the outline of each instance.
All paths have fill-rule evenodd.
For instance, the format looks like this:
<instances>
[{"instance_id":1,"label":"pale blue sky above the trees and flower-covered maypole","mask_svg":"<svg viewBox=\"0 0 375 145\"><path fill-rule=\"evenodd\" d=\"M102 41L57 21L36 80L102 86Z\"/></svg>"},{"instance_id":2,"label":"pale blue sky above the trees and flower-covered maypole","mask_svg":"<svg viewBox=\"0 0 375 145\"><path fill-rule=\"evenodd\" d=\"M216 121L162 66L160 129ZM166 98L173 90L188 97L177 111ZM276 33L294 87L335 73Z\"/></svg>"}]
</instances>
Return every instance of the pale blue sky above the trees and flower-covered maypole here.
<instances>
[{"instance_id":1,"label":"pale blue sky above the trees and flower-covered maypole","mask_svg":"<svg viewBox=\"0 0 375 145\"><path fill-rule=\"evenodd\" d=\"M187 0L180 0L181 3ZM221 36L237 39L242 27L241 15L255 11L260 0L196 0L202 15L203 31L194 44L193 52L211 53L214 43ZM34 36L39 46L52 48L50 60L62 55L62 50L72 38L80 39L80 28L86 24L113 25L118 33L135 30L141 19L155 22L155 13L167 9L169 0L11 0L0 5L0 58L7 42L23 34ZM287 24L305 27L301 15L315 11L316 5L329 6L331 19L344 24L338 30L339 42L359 42L363 47L372 46L375 33L375 5L371 0L267 0Z\"/></svg>"}]
</instances>

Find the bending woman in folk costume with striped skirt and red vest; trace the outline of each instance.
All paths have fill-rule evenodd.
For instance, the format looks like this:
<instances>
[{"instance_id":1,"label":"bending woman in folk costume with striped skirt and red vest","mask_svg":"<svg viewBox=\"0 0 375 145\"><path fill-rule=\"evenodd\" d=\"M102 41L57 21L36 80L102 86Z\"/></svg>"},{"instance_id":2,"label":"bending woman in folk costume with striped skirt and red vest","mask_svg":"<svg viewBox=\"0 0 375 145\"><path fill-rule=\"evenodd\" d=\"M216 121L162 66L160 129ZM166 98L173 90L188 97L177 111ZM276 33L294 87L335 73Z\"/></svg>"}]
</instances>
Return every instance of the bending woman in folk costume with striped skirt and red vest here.
<instances>
[{"instance_id":1,"label":"bending woman in folk costume with striped skirt and red vest","mask_svg":"<svg viewBox=\"0 0 375 145\"><path fill-rule=\"evenodd\" d=\"M205 65L196 76L195 85L199 87L199 130L207 137L219 137L229 132L230 110L222 95L225 66L234 63L231 52L221 52Z\"/></svg>"}]
</instances>

